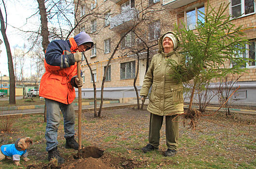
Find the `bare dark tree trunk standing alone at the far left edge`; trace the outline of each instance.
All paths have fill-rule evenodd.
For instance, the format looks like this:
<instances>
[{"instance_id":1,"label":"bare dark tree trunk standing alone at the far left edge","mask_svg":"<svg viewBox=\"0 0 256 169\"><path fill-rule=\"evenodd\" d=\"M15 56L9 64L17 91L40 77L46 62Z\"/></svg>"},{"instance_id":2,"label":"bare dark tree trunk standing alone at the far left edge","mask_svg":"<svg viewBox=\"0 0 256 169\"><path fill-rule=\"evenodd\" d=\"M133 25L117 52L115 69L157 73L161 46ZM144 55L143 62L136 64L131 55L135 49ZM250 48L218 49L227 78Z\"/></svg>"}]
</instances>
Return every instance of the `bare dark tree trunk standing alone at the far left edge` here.
<instances>
[{"instance_id":1,"label":"bare dark tree trunk standing alone at the far left edge","mask_svg":"<svg viewBox=\"0 0 256 169\"><path fill-rule=\"evenodd\" d=\"M7 17L7 14L6 14ZM6 47L6 53L8 57L8 70L9 70L9 77L10 77L10 95L9 95L9 104L16 104L15 100L15 75L14 75L14 65L13 65L13 58L11 53L10 44L8 38L6 36L6 27L3 20L2 11L0 8L0 22L1 22L1 33L3 36L3 41Z\"/></svg>"}]
</instances>

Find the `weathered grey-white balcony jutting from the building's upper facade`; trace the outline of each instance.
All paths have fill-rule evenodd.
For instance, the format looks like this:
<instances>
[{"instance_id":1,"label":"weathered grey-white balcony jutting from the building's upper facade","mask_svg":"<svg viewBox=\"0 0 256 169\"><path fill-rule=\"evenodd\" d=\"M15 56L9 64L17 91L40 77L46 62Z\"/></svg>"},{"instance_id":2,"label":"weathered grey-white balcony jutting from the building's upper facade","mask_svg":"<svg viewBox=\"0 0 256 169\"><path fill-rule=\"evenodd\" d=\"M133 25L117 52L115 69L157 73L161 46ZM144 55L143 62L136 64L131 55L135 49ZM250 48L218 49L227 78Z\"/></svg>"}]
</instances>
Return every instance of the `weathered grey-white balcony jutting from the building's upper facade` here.
<instances>
[{"instance_id":1,"label":"weathered grey-white balcony jutting from the building's upper facade","mask_svg":"<svg viewBox=\"0 0 256 169\"><path fill-rule=\"evenodd\" d=\"M110 28L113 31L127 30L136 23L137 11L131 8L129 11L118 14L110 18Z\"/></svg>"}]
</instances>

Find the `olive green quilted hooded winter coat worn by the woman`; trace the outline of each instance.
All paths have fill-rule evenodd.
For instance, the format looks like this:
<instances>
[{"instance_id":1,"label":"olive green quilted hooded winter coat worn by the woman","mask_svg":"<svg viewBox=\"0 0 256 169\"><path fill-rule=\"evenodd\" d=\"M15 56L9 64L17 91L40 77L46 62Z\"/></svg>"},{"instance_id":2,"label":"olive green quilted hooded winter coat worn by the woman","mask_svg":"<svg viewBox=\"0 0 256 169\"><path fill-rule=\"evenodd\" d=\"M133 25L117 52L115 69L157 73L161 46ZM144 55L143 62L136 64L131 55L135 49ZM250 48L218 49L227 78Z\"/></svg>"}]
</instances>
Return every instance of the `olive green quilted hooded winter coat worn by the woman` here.
<instances>
[{"instance_id":1,"label":"olive green quilted hooded winter coat worn by the woman","mask_svg":"<svg viewBox=\"0 0 256 169\"><path fill-rule=\"evenodd\" d=\"M167 32L168 33L168 32ZM149 96L150 102L147 110L156 115L174 115L183 113L183 85L177 79L171 78L173 73L171 65L166 58L175 60L178 64L184 62L184 57L171 51L165 54L162 39L159 39L159 51L151 60L151 65L146 73L140 96Z\"/></svg>"}]
</instances>

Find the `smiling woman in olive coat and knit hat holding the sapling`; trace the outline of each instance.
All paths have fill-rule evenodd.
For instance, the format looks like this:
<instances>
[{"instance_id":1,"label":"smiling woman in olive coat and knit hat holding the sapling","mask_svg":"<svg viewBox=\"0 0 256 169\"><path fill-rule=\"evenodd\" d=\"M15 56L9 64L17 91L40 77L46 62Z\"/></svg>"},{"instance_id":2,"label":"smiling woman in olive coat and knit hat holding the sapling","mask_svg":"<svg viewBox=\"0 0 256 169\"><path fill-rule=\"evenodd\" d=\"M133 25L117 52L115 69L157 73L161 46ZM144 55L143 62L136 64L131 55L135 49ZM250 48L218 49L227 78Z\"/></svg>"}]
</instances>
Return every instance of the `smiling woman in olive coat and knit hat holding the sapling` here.
<instances>
[{"instance_id":1,"label":"smiling woman in olive coat and knit hat holding the sapling","mask_svg":"<svg viewBox=\"0 0 256 169\"><path fill-rule=\"evenodd\" d=\"M184 57L177 54L178 39L173 32L167 32L159 39L159 51L151 60L140 90L141 101L145 101L149 89L149 105L147 110L151 113L149 128L149 143L142 148L143 152L158 149L160 129L163 118L166 116L166 156L173 156L178 148L179 124L178 118L172 121L177 114L183 113L183 86L181 81L172 78L171 65L166 58L174 60L177 64L184 62Z\"/></svg>"}]
</instances>

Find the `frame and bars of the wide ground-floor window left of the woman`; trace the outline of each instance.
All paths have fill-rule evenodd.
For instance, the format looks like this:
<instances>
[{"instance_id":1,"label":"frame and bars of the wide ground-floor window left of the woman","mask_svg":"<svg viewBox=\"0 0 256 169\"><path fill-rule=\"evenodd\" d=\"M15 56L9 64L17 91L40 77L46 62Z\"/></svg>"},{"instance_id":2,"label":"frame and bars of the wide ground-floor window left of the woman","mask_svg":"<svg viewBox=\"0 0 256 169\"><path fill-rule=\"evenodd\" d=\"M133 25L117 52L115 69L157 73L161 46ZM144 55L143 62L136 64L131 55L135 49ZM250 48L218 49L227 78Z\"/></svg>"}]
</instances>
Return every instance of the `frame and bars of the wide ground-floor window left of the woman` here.
<instances>
[{"instance_id":1,"label":"frame and bars of the wide ground-floor window left of the woman","mask_svg":"<svg viewBox=\"0 0 256 169\"><path fill-rule=\"evenodd\" d=\"M131 70L130 70L130 76L128 75L128 71L129 70L127 70L128 68L128 64L129 63L131 63ZM123 74L123 66L122 65L125 65L124 66L124 76L125 77L122 77L122 74ZM134 71L134 72L133 72ZM135 76L136 76L136 62L135 62L135 60L133 60L133 61L129 61L129 62L124 62L124 63L120 63L120 80L125 80L125 79L134 79L135 78Z\"/></svg>"}]
</instances>

